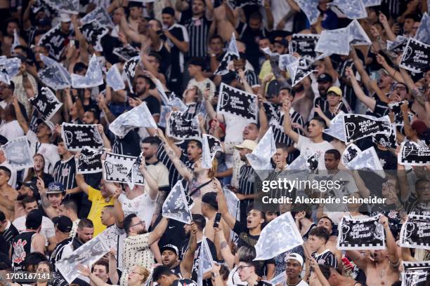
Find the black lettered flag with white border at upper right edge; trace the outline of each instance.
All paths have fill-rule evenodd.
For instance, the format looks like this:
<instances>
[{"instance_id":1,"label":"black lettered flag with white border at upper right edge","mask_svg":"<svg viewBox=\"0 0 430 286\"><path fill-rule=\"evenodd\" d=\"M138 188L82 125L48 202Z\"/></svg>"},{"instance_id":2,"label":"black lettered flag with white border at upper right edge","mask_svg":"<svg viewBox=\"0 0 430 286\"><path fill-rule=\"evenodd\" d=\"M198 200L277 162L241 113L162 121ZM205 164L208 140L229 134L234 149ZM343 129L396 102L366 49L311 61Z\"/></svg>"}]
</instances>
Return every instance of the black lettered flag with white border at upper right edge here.
<instances>
[{"instance_id":1,"label":"black lettered flag with white border at upper right edge","mask_svg":"<svg viewBox=\"0 0 430 286\"><path fill-rule=\"evenodd\" d=\"M400 67L416 73L429 68L430 45L409 38L400 60Z\"/></svg>"}]
</instances>

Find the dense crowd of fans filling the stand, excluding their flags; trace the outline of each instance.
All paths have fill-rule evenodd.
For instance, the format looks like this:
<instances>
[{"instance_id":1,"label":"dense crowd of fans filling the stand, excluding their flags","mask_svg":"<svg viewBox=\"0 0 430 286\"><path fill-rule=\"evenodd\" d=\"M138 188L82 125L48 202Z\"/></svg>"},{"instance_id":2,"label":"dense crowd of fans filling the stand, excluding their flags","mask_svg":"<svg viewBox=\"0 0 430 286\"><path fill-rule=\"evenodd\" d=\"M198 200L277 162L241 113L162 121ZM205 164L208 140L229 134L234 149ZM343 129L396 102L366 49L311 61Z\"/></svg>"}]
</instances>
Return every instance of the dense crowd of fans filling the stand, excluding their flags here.
<instances>
[{"instance_id":1,"label":"dense crowd of fans filling the stand, excluding their flags","mask_svg":"<svg viewBox=\"0 0 430 286\"><path fill-rule=\"evenodd\" d=\"M276 152L270 179L309 151L317 154L318 170L336 175L345 170L340 159L346 145L323 130L339 111L400 116L397 144L410 140L428 147L430 70L412 74L398 67L402 51L386 48L386 41L397 35L415 36L427 9L425 0L384 0L366 8L367 18L359 22L372 46L354 46L349 55L315 61L313 73L294 86L262 49L286 54L292 34L346 27L351 19L339 18L327 6L329 0L315 4L320 17L313 25L294 0L263 0L260 5L252 1L241 8L225 0L147 2L80 0L78 14L67 14L51 1L0 0L1 55L21 62L10 84L0 82L0 140L6 144L26 136L34 159L32 168L17 170L0 149L0 285L18 285L3 279L18 271L51 273L50 279L28 282L31 285L69 285L56 263L103 231L108 232L110 252L93 265L79 264L80 275L71 285L200 285L197 260L203 238L215 263L203 273L202 283L214 286L263 285L282 274L281 284L290 286L400 285L401 261L430 260L428 249L396 244L409 213L430 215L429 165L400 165L398 149L374 144L370 137L355 142L362 150L373 146L384 170L396 171L378 186L370 186L363 173L351 173L348 196L365 197L369 189L380 188L387 199L386 209L379 211L371 205L347 206L357 219L382 214L386 249L359 252L337 249L344 210L327 210L324 205L301 205L297 210L291 204L264 210L255 204L260 179L245 156L272 127ZM115 25L103 36L103 51L79 31L80 19L98 7L105 8ZM39 39L58 23L61 33L56 40L64 47L58 62L70 74L84 76L93 54L104 71L117 64L122 72L125 61L112 50L127 45L140 50L133 92L114 91L105 83L55 90L63 107L51 118L52 124L38 118L28 99L44 86L38 77L45 67L41 55L52 57L50 47L40 46ZM228 73L214 75L232 34L240 58L228 64ZM178 142L164 128L136 128L124 137L110 132L109 124L117 116L142 102L155 122L165 121L160 118L163 103L157 80L168 95L174 93L186 105L185 118L198 116L201 132L221 140L223 151L211 169L202 167L198 139ZM216 112L221 83L258 97L257 123ZM393 114L390 104L396 102L403 104L401 112ZM67 150L61 123L97 124L105 149L143 156L145 186L131 189L106 182L102 172L78 174L77 154ZM163 202L179 180L194 200L191 224L162 216ZM239 214L229 212L225 189L240 200ZM254 245L264 226L285 212L292 212L304 245L254 261ZM221 221L214 226L217 213Z\"/></svg>"}]
</instances>

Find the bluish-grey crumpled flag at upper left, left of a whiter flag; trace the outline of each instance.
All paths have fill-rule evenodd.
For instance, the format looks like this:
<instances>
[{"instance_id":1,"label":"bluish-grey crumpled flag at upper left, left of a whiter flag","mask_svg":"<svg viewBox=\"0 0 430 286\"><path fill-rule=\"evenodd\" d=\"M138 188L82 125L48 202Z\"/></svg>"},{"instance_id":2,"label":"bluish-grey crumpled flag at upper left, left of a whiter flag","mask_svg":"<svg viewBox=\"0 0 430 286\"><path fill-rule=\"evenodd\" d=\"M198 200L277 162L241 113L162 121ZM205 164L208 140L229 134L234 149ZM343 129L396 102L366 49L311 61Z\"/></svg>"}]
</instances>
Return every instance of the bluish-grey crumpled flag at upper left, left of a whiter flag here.
<instances>
[{"instance_id":1,"label":"bluish-grey crumpled flag at upper left, left of a whiter flag","mask_svg":"<svg viewBox=\"0 0 430 286\"><path fill-rule=\"evenodd\" d=\"M72 85L72 78L63 64L43 54L40 55L40 59L46 65L44 69L37 73L42 83L53 90L70 88Z\"/></svg>"}]
</instances>

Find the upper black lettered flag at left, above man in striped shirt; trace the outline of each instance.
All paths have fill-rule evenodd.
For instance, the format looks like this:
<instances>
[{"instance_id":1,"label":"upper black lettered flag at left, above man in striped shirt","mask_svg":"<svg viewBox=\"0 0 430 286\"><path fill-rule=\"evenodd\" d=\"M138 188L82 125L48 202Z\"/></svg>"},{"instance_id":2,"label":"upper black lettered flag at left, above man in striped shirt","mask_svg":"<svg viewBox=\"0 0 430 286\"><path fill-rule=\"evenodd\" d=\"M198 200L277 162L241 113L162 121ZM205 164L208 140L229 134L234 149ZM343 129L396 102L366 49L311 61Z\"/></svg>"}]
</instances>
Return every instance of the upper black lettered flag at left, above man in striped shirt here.
<instances>
[{"instance_id":1,"label":"upper black lettered flag at left, above man in striped shirt","mask_svg":"<svg viewBox=\"0 0 430 286\"><path fill-rule=\"evenodd\" d=\"M84 147L92 149L103 147L103 139L96 124L63 123L61 137L69 151L81 151Z\"/></svg>"}]
</instances>

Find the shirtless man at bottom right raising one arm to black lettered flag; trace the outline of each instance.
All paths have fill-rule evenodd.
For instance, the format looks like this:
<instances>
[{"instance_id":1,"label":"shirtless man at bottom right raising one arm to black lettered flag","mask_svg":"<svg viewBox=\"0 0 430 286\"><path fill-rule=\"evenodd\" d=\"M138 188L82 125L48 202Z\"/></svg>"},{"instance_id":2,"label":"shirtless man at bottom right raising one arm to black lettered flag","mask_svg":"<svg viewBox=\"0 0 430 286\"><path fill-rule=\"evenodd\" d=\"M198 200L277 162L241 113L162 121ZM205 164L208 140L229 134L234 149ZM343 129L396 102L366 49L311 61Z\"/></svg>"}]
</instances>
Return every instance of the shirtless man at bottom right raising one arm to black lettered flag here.
<instances>
[{"instance_id":1,"label":"shirtless man at bottom right raising one arm to black lettered flag","mask_svg":"<svg viewBox=\"0 0 430 286\"><path fill-rule=\"evenodd\" d=\"M379 223L384 226L386 250L370 250L370 255L365 257L356 250L346 251L348 257L365 271L366 283L369 286L392 285L400 278L398 270L400 259L396 241L389 229L388 219L382 216L379 218Z\"/></svg>"}]
</instances>

